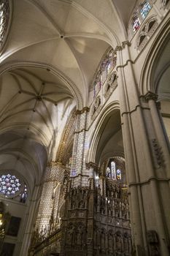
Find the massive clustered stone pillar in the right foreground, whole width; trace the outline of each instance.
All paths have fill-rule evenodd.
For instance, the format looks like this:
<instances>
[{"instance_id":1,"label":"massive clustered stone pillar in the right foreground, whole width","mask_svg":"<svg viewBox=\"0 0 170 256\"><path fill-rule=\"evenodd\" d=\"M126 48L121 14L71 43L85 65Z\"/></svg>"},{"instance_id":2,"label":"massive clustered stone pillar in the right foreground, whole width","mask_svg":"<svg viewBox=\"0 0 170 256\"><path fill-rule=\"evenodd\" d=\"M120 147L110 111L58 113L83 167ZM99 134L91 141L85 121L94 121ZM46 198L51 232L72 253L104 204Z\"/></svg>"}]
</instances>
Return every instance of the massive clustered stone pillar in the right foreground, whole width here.
<instances>
[{"instance_id":1,"label":"massive clustered stone pillar in the right foreground, whole width","mask_svg":"<svg viewBox=\"0 0 170 256\"><path fill-rule=\"evenodd\" d=\"M169 152L153 94L140 97L127 44L123 51L117 71L133 243L137 255L149 255L150 236L158 235L152 250L168 256Z\"/></svg>"}]
</instances>

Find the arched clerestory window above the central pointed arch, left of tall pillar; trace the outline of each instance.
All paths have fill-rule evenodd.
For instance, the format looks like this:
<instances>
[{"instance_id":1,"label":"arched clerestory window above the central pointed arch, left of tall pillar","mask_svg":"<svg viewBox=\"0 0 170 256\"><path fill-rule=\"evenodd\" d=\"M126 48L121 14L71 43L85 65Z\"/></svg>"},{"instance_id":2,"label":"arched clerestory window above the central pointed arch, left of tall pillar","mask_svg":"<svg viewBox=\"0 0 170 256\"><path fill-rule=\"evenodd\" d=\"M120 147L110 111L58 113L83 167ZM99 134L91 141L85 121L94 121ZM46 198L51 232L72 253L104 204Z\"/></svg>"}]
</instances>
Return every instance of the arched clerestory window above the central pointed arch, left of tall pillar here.
<instances>
[{"instance_id":1,"label":"arched clerestory window above the central pointed arch, left of tall pillar","mask_svg":"<svg viewBox=\"0 0 170 256\"><path fill-rule=\"evenodd\" d=\"M103 86L105 80L109 76L112 69L116 66L116 56L113 49L109 49L104 59L101 61L96 73L96 78L93 82L93 97L96 97L101 86Z\"/></svg>"}]
</instances>

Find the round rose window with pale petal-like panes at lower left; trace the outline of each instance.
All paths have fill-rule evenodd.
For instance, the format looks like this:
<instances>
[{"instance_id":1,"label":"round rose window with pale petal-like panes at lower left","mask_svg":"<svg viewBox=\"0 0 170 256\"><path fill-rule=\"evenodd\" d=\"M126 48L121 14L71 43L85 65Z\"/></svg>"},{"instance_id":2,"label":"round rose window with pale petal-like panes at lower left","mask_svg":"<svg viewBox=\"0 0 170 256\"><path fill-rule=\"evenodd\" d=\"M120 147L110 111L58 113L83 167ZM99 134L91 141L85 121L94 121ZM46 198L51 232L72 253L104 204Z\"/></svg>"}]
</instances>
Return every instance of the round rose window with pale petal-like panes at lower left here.
<instances>
[{"instance_id":1,"label":"round rose window with pale petal-like panes at lower left","mask_svg":"<svg viewBox=\"0 0 170 256\"><path fill-rule=\"evenodd\" d=\"M15 175L7 174L0 176L0 193L12 196L20 190L20 180Z\"/></svg>"}]
</instances>

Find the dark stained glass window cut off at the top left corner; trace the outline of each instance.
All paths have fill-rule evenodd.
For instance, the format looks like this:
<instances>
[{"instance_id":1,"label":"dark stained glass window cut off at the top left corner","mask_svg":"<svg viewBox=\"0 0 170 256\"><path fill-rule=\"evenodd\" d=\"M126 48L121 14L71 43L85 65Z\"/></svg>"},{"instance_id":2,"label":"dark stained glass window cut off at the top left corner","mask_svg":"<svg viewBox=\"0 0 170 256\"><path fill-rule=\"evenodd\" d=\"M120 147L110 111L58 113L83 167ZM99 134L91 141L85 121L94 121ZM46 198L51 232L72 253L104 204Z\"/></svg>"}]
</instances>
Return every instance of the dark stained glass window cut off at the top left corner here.
<instances>
[{"instance_id":1,"label":"dark stained glass window cut off at the top left corner","mask_svg":"<svg viewBox=\"0 0 170 256\"><path fill-rule=\"evenodd\" d=\"M4 42L9 22L9 2L7 0L0 1L0 47Z\"/></svg>"}]
</instances>

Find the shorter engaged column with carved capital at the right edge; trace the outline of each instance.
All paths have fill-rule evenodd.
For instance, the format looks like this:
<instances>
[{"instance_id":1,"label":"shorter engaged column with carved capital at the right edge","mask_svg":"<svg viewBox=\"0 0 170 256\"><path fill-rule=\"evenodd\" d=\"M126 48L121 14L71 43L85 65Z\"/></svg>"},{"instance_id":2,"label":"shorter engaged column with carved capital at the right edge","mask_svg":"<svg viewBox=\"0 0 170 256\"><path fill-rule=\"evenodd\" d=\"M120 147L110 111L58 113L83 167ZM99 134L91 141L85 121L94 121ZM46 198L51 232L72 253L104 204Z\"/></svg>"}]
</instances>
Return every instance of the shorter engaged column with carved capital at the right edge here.
<instances>
[{"instance_id":1,"label":"shorter engaged column with carved capital at the right edge","mask_svg":"<svg viewBox=\"0 0 170 256\"><path fill-rule=\"evenodd\" d=\"M160 105L157 102L158 95L148 91L141 97L143 102L144 116L147 120L147 130L150 137L150 148L152 157L152 173L150 173L150 184L152 184L153 206L155 208L155 231L161 237L161 252L166 255L166 248L170 244L170 155L166 135L161 123ZM169 253L169 252L167 252Z\"/></svg>"}]
</instances>

